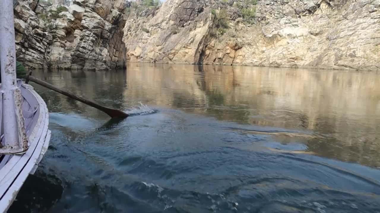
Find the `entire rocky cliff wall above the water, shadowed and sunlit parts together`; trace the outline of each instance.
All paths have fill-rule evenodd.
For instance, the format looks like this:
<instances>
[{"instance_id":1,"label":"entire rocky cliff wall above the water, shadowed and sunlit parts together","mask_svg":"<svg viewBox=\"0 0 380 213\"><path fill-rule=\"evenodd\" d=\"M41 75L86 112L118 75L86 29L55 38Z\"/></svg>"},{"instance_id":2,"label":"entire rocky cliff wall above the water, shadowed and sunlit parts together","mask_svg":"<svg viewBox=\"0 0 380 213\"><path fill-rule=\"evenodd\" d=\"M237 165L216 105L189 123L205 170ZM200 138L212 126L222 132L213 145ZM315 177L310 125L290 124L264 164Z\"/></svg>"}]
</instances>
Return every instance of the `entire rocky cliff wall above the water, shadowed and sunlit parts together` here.
<instances>
[{"instance_id":1,"label":"entire rocky cliff wall above the water, shadowed and sunlit parts together","mask_svg":"<svg viewBox=\"0 0 380 213\"><path fill-rule=\"evenodd\" d=\"M60 13L47 12L59 4ZM379 0L167 0L162 6L19 0L17 58L57 69L111 69L128 60L379 70L379 6Z\"/></svg>"}]
</instances>

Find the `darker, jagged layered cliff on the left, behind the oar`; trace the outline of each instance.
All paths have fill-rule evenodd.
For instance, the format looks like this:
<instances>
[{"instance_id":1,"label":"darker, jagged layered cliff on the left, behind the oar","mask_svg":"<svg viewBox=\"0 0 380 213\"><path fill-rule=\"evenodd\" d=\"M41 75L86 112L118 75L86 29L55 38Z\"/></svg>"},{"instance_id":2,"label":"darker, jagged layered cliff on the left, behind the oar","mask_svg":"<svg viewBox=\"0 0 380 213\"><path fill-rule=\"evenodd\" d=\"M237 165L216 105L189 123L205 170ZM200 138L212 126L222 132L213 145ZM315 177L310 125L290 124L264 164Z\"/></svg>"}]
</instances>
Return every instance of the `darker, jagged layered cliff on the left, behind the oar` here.
<instances>
[{"instance_id":1,"label":"darker, jagged layered cliff on the left, behind the oar","mask_svg":"<svg viewBox=\"0 0 380 213\"><path fill-rule=\"evenodd\" d=\"M34 68L124 66L123 0L74 0L59 7L41 2L14 4L18 61Z\"/></svg>"}]
</instances>

